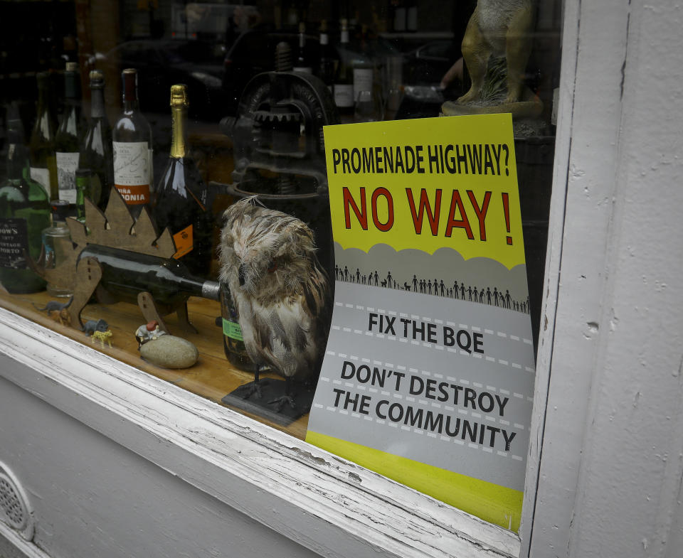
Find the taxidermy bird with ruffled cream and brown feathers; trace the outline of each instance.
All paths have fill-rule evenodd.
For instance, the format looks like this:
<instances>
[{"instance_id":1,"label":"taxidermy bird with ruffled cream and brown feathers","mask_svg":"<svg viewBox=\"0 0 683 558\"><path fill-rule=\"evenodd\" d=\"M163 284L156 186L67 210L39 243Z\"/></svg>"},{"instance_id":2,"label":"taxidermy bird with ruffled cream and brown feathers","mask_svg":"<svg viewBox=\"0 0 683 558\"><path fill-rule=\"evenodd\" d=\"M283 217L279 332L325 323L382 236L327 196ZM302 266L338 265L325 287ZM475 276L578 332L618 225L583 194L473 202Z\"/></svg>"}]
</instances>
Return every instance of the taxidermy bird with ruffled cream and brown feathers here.
<instances>
[{"instance_id":1,"label":"taxidermy bird with ruffled cream and brown feathers","mask_svg":"<svg viewBox=\"0 0 683 558\"><path fill-rule=\"evenodd\" d=\"M292 379L317 374L322 363L331 301L316 257L312 230L301 220L245 198L224 213L221 281L239 313L242 337L255 363L246 397L261 397L258 374L270 367L285 377L285 395L270 401L295 407Z\"/></svg>"}]
</instances>

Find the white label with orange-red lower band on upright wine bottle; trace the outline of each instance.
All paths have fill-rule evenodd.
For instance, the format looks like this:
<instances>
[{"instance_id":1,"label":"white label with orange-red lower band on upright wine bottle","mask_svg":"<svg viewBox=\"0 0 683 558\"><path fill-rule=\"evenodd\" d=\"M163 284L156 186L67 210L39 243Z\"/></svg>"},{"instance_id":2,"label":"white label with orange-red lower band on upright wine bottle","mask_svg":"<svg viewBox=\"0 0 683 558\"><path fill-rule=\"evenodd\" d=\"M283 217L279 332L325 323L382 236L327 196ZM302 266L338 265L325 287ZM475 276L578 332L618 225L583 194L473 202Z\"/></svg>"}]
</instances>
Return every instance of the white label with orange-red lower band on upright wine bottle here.
<instances>
[{"instance_id":1,"label":"white label with orange-red lower band on upright wine bottle","mask_svg":"<svg viewBox=\"0 0 683 558\"><path fill-rule=\"evenodd\" d=\"M149 203L152 178L147 141L114 141L114 186L128 205Z\"/></svg>"}]
</instances>

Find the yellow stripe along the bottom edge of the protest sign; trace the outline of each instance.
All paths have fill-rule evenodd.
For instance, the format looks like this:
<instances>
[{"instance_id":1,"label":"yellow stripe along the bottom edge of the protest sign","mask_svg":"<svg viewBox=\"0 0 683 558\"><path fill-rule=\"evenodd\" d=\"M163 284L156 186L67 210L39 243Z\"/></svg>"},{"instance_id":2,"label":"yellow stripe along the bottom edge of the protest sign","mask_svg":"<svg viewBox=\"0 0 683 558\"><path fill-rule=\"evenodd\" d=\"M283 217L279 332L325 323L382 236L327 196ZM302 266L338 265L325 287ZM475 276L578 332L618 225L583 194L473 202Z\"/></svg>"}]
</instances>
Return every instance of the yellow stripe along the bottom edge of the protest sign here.
<instances>
[{"instance_id":1,"label":"yellow stripe along the bottom edge of the protest sign","mask_svg":"<svg viewBox=\"0 0 683 558\"><path fill-rule=\"evenodd\" d=\"M385 451L308 431L306 441L482 520L519 531L524 493Z\"/></svg>"}]
</instances>

